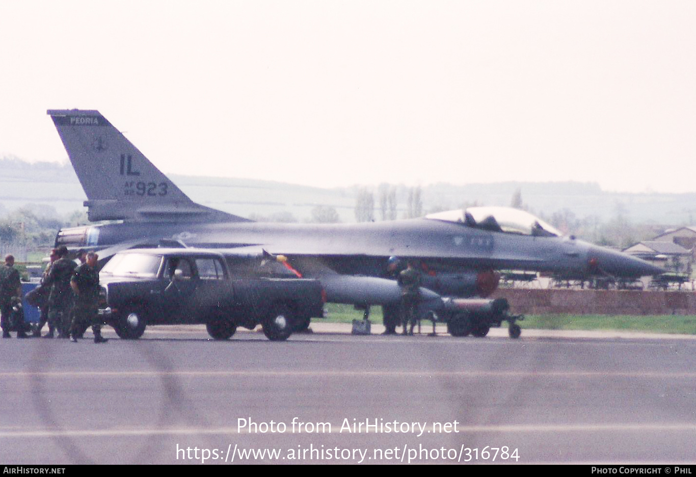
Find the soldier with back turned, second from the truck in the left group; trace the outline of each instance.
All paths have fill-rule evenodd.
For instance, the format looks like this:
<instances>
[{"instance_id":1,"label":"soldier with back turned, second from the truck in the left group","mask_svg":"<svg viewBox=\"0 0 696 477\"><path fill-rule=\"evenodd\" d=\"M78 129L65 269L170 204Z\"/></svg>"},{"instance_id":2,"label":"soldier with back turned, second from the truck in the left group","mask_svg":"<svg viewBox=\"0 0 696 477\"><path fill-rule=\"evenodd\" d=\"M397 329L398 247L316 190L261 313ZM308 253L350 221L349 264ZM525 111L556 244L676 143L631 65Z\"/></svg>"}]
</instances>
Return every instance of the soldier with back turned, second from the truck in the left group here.
<instances>
[{"instance_id":1,"label":"soldier with back turned, second from the truck in the left group","mask_svg":"<svg viewBox=\"0 0 696 477\"><path fill-rule=\"evenodd\" d=\"M51 287L48 298L49 335L52 338L51 327L58 329L58 338L68 338L70 328L70 310L72 308L72 290L70 278L77 264L68 259L68 248L61 245L56 248L58 259L51 266L46 285ZM47 336L49 336L47 335Z\"/></svg>"}]
</instances>

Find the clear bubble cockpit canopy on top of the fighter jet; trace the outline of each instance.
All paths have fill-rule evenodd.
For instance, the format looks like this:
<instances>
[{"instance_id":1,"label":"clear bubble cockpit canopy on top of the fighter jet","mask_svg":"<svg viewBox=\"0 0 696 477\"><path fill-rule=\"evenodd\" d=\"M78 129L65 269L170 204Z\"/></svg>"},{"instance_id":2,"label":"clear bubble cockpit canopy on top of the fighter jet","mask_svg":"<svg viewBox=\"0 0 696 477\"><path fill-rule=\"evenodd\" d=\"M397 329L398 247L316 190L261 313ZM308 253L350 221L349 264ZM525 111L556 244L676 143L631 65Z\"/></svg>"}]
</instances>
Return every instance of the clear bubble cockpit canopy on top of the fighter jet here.
<instances>
[{"instance_id":1,"label":"clear bubble cockpit canopy on top of the fighter jet","mask_svg":"<svg viewBox=\"0 0 696 477\"><path fill-rule=\"evenodd\" d=\"M425 218L457 222L491 232L541 237L560 237L563 235L555 227L529 212L509 207L469 207L456 211L430 213Z\"/></svg>"}]
</instances>

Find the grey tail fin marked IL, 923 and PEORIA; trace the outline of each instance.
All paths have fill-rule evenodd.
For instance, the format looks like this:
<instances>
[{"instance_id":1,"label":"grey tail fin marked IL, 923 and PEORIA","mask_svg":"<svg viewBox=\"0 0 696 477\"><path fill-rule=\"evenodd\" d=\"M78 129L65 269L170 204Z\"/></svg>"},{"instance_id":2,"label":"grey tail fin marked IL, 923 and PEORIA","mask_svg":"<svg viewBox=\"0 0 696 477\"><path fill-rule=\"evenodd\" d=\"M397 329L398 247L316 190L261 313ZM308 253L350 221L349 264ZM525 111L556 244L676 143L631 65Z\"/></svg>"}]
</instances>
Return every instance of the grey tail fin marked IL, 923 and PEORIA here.
<instances>
[{"instance_id":1,"label":"grey tail fin marked IL, 923 and PEORIA","mask_svg":"<svg viewBox=\"0 0 696 477\"><path fill-rule=\"evenodd\" d=\"M87 195L90 220L247 222L196 204L100 112L49 109Z\"/></svg>"}]
</instances>

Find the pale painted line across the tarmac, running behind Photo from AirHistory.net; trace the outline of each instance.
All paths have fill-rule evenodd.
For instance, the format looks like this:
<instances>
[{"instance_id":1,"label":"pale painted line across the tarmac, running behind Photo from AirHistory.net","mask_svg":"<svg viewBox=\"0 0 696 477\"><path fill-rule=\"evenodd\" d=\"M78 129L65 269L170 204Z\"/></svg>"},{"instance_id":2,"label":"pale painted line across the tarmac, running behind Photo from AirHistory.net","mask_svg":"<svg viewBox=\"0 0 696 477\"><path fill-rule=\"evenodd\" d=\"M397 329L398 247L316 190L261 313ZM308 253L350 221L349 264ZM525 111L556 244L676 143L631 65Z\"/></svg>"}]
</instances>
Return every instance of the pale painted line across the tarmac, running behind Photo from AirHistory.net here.
<instances>
[{"instance_id":1,"label":"pale painted line across the tarmac, running behind Photo from AirHistory.net","mask_svg":"<svg viewBox=\"0 0 696 477\"><path fill-rule=\"evenodd\" d=\"M340 429L340 424L331 425L331 428ZM463 434L489 433L489 432L696 432L696 424L509 424L509 425L458 425L457 430ZM328 432L322 432L328 434ZM439 434L434 426L429 427L427 434ZM118 436L155 436L155 435L207 435L207 434L260 434L237 432L237 427L219 427L215 429L114 429L114 430L23 430L2 431L0 439L22 438L52 438L52 437L118 437ZM285 432L267 432L264 437L276 434L308 434L306 431L286 430ZM310 434L317 434L311 432ZM334 433L335 434L335 433ZM361 432L361 434L379 434L376 430ZM353 435L353 434L351 434Z\"/></svg>"}]
</instances>

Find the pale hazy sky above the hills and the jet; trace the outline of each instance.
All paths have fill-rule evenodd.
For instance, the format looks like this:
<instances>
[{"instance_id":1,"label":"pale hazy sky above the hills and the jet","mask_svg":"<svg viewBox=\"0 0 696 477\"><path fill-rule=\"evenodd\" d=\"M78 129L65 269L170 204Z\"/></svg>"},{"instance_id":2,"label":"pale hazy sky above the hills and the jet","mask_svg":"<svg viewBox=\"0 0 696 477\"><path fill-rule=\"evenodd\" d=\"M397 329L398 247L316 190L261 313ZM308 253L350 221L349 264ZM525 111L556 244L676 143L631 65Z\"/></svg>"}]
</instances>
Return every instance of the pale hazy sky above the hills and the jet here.
<instances>
[{"instance_id":1,"label":"pale hazy sky above the hills and the jet","mask_svg":"<svg viewBox=\"0 0 696 477\"><path fill-rule=\"evenodd\" d=\"M0 156L99 109L163 172L696 191L696 1L0 0Z\"/></svg>"}]
</instances>

